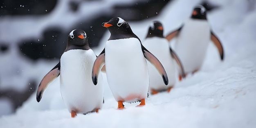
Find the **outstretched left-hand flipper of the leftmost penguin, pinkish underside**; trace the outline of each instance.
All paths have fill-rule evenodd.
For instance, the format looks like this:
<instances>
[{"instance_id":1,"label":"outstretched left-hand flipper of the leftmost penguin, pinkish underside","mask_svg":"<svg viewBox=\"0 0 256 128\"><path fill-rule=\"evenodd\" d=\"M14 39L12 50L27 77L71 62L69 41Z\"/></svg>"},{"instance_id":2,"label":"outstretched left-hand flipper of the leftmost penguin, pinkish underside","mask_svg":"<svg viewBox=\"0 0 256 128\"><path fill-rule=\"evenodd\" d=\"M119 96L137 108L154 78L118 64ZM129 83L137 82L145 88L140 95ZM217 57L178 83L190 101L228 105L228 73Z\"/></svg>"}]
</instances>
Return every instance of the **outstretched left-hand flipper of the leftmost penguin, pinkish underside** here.
<instances>
[{"instance_id":1,"label":"outstretched left-hand flipper of the leftmost penguin, pinkish underside","mask_svg":"<svg viewBox=\"0 0 256 128\"><path fill-rule=\"evenodd\" d=\"M61 62L59 62L50 72L48 72L38 85L37 91L36 91L36 101L39 102L43 96L44 90L47 88L47 86L54 81L61 72Z\"/></svg>"}]
</instances>

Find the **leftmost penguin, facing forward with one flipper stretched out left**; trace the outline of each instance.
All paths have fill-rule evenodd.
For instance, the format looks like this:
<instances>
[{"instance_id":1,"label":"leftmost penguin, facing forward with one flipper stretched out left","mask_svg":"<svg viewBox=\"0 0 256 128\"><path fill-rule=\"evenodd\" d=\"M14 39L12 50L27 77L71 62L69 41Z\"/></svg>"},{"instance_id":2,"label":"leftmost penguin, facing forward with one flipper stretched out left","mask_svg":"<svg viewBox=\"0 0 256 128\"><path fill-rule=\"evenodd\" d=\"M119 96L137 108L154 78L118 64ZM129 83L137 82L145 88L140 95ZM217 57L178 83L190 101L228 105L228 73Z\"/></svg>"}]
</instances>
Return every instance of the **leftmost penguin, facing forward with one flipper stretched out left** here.
<instances>
[{"instance_id":1,"label":"leftmost penguin, facing forward with one flipper stretched out left","mask_svg":"<svg viewBox=\"0 0 256 128\"><path fill-rule=\"evenodd\" d=\"M60 62L40 82L36 100L39 102L44 90L60 76L61 96L71 117L76 113L98 112L103 105L103 77L99 73L99 84L92 82L92 66L96 54L88 45L83 30L74 29L67 38L67 47Z\"/></svg>"}]
</instances>

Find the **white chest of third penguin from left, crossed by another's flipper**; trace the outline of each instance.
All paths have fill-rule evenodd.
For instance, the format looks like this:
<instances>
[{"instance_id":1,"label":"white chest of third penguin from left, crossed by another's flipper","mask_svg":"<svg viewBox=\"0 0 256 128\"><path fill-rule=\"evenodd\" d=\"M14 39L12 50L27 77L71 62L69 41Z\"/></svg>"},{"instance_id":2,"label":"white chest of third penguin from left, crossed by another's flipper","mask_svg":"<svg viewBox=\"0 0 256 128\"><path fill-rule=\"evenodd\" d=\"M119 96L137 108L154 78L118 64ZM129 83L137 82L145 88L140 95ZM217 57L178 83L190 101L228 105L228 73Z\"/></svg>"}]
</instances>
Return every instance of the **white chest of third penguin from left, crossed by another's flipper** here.
<instances>
[{"instance_id":1,"label":"white chest of third penguin from left, crossed by another's flipper","mask_svg":"<svg viewBox=\"0 0 256 128\"><path fill-rule=\"evenodd\" d=\"M162 63L168 76L166 86L157 69L148 62L149 87L155 90L166 90L175 84L175 62L171 57L168 40L165 38L151 37L144 40L143 46L148 49Z\"/></svg>"}]
</instances>

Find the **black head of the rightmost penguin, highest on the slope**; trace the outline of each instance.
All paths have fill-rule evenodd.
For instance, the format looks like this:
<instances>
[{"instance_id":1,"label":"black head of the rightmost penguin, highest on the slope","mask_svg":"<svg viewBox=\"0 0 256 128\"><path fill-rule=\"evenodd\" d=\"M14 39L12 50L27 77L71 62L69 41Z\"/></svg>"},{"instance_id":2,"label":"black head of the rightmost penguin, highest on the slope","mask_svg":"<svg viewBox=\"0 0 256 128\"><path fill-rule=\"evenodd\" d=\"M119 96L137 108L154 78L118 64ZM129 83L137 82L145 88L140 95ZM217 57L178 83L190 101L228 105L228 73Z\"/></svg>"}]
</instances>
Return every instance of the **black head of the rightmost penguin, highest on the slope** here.
<instances>
[{"instance_id":1,"label":"black head of the rightmost penguin, highest on the slope","mask_svg":"<svg viewBox=\"0 0 256 128\"><path fill-rule=\"evenodd\" d=\"M206 9L202 5L194 8L191 18L206 20Z\"/></svg>"}]
</instances>

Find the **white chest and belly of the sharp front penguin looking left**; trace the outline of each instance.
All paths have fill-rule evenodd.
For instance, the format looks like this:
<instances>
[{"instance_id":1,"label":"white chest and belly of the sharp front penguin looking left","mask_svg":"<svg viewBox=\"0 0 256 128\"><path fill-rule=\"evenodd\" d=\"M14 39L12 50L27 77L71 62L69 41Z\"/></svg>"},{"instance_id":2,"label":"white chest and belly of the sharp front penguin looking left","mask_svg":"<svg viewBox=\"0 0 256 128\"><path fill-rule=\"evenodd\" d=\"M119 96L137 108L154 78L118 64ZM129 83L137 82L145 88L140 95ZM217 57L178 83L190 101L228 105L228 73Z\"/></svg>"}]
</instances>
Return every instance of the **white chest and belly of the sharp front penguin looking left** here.
<instances>
[{"instance_id":1,"label":"white chest and belly of the sharp front penguin looking left","mask_svg":"<svg viewBox=\"0 0 256 128\"><path fill-rule=\"evenodd\" d=\"M108 40L105 65L109 87L116 101L135 102L148 94L148 69L137 38Z\"/></svg>"}]
</instances>

